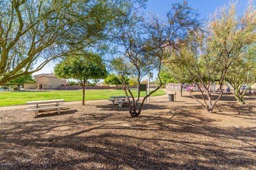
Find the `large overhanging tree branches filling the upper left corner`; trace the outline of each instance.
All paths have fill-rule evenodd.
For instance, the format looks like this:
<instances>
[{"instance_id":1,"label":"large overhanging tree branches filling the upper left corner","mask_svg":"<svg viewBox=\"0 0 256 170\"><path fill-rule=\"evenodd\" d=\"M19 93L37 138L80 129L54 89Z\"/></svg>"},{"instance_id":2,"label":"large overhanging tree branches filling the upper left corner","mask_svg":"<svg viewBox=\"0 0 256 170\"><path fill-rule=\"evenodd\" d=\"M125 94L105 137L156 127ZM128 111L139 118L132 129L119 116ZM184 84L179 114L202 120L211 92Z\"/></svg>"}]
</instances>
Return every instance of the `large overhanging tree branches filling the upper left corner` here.
<instances>
[{"instance_id":1,"label":"large overhanging tree branches filling the upper left corner","mask_svg":"<svg viewBox=\"0 0 256 170\"><path fill-rule=\"evenodd\" d=\"M98 47L134 4L145 0L0 1L0 86L55 58Z\"/></svg>"}]
</instances>

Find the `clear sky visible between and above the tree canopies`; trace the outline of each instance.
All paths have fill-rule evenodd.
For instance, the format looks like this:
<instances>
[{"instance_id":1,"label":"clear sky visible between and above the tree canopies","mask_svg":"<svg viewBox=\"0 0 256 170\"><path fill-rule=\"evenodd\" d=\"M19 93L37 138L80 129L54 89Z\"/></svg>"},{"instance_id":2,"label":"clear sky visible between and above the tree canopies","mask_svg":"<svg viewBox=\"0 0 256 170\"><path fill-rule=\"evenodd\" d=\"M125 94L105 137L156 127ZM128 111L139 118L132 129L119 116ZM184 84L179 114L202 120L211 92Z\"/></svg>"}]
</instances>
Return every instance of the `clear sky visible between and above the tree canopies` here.
<instances>
[{"instance_id":1,"label":"clear sky visible between and above the tree canopies","mask_svg":"<svg viewBox=\"0 0 256 170\"><path fill-rule=\"evenodd\" d=\"M182 3L182 0L148 0L147 7L144 13L155 13L160 18L165 18L166 13L171 9L173 3ZM247 0L240 0L238 3L239 10L243 11L245 5L247 4ZM188 0L188 4L193 7L200 14L200 19L209 18L210 14L213 14L215 9L222 6L228 5L229 0ZM254 1L254 4L255 1ZM47 64L41 71L38 71L35 74L41 73L51 73L53 72L53 67L55 63L50 62ZM154 78L155 78L154 74Z\"/></svg>"}]
</instances>

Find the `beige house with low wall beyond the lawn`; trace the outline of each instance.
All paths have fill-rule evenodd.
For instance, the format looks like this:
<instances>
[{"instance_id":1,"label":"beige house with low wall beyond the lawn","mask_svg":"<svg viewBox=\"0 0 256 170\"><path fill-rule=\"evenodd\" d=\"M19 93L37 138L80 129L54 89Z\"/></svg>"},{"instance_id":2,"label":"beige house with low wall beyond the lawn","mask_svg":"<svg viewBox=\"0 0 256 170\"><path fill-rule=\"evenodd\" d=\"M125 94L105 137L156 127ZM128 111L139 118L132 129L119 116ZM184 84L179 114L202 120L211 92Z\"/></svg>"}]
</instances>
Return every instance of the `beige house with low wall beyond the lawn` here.
<instances>
[{"instance_id":1,"label":"beige house with low wall beyond the lawn","mask_svg":"<svg viewBox=\"0 0 256 170\"><path fill-rule=\"evenodd\" d=\"M34 84L24 84L25 89L59 89L60 86L65 86L66 79L59 79L53 73L43 73L34 75Z\"/></svg>"}]
</instances>

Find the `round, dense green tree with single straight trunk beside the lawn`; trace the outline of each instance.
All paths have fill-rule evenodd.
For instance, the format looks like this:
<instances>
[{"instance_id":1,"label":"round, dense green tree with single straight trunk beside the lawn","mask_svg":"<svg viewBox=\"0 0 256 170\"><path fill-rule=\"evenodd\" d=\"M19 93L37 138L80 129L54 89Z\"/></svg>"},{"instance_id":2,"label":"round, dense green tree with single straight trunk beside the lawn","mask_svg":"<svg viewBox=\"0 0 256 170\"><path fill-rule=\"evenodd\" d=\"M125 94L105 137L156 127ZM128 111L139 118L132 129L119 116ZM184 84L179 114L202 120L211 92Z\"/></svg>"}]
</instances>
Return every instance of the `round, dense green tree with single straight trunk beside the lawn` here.
<instances>
[{"instance_id":1,"label":"round, dense green tree with single straight trunk beside the lawn","mask_svg":"<svg viewBox=\"0 0 256 170\"><path fill-rule=\"evenodd\" d=\"M84 105L85 84L89 79L103 79L107 76L106 66L97 54L86 53L68 57L54 67L59 78L76 79L83 87L82 104Z\"/></svg>"}]
</instances>

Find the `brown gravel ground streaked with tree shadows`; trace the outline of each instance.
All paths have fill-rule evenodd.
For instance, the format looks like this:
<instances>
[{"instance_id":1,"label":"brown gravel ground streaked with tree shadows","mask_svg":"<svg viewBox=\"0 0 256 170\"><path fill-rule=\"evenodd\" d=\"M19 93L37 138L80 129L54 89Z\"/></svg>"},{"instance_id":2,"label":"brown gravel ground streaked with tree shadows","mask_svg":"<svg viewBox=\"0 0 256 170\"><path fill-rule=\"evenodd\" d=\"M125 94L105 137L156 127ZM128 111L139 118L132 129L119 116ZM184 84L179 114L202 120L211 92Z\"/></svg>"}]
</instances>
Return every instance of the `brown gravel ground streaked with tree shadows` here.
<instances>
[{"instance_id":1,"label":"brown gravel ground streaked with tree shadows","mask_svg":"<svg viewBox=\"0 0 256 170\"><path fill-rule=\"evenodd\" d=\"M256 95L226 94L213 114L188 94L162 98L137 118L108 101L2 110L0 169L256 169Z\"/></svg>"}]
</instances>

